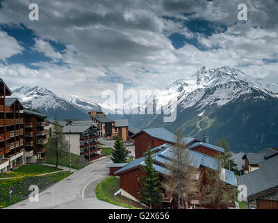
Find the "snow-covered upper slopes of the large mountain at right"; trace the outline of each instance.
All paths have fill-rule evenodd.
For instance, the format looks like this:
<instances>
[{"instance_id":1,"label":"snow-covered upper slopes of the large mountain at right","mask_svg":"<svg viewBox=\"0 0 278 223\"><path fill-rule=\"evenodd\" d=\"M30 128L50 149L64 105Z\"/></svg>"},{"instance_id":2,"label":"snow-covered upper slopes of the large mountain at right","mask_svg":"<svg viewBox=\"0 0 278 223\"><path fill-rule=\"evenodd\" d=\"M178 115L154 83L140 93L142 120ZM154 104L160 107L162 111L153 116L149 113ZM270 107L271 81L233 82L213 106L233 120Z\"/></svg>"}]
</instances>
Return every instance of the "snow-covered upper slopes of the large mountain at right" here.
<instances>
[{"instance_id":1,"label":"snow-covered upper slopes of the large mountain at right","mask_svg":"<svg viewBox=\"0 0 278 223\"><path fill-rule=\"evenodd\" d=\"M278 85L270 84L263 79L255 79L244 72L229 67L209 69L202 67L190 78L178 79L163 91L154 92L148 102L156 103L156 108L163 107L166 114L170 105L177 105L181 111L188 107L197 107L202 111L209 105L221 107L241 95L260 91L264 95L278 98ZM145 109L145 104L141 109ZM203 111L202 111L203 112Z\"/></svg>"}]
</instances>

